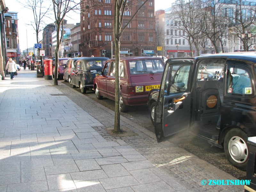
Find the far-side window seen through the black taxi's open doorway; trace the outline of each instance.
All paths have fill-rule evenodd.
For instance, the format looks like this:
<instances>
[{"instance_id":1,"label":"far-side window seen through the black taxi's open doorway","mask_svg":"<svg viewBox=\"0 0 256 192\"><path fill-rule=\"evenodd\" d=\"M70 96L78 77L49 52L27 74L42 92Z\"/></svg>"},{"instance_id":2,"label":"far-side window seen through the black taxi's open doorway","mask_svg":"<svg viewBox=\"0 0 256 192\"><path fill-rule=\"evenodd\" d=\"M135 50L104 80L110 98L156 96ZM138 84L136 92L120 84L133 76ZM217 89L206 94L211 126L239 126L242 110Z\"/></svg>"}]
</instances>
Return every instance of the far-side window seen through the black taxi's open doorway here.
<instances>
[{"instance_id":1,"label":"far-side window seen through the black taxi's open doorway","mask_svg":"<svg viewBox=\"0 0 256 192\"><path fill-rule=\"evenodd\" d=\"M199 62L197 71L197 81L211 81L220 78L221 70L224 67L225 61L206 59Z\"/></svg>"}]
</instances>

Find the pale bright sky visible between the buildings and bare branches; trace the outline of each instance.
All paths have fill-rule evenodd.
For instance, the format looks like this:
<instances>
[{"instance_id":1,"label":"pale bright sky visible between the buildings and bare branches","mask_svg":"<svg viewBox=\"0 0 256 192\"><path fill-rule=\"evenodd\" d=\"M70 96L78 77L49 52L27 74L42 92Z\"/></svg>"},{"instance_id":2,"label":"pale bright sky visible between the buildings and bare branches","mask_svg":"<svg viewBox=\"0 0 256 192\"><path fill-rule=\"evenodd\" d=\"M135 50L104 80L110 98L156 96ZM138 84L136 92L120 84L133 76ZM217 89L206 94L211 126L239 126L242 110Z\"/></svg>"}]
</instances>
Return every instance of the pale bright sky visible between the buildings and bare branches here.
<instances>
[{"instance_id":1,"label":"pale bright sky visible between the buildings and bare branches","mask_svg":"<svg viewBox=\"0 0 256 192\"><path fill-rule=\"evenodd\" d=\"M19 2L25 3L26 0L19 0ZM171 7L174 0L155 0L155 11L159 9L166 9ZM18 32L20 40L20 50L21 52L27 48L31 48L36 43L36 32L32 26L28 25L34 20L34 16L31 10L24 8L23 5L18 3L17 0L5 0L5 5L8 7L9 12L18 12ZM76 24L80 22L80 14L72 13L71 16L65 18L67 23ZM47 24L53 23L54 20L49 20ZM42 34L39 34L40 40L42 39Z\"/></svg>"}]
</instances>

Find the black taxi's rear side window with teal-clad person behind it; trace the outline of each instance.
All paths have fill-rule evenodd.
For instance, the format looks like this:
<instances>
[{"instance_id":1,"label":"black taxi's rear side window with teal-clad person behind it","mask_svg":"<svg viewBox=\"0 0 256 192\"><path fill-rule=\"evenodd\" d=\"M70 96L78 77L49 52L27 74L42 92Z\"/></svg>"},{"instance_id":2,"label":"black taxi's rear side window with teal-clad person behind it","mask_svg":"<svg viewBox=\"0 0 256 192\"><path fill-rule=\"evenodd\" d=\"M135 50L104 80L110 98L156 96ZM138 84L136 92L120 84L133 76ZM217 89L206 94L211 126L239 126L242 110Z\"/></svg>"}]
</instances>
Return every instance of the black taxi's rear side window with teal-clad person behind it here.
<instances>
[{"instance_id":1,"label":"black taxi's rear side window with teal-clad person behind it","mask_svg":"<svg viewBox=\"0 0 256 192\"><path fill-rule=\"evenodd\" d=\"M252 97L254 88L250 71L243 66L228 65L226 94L232 96Z\"/></svg>"}]
</instances>

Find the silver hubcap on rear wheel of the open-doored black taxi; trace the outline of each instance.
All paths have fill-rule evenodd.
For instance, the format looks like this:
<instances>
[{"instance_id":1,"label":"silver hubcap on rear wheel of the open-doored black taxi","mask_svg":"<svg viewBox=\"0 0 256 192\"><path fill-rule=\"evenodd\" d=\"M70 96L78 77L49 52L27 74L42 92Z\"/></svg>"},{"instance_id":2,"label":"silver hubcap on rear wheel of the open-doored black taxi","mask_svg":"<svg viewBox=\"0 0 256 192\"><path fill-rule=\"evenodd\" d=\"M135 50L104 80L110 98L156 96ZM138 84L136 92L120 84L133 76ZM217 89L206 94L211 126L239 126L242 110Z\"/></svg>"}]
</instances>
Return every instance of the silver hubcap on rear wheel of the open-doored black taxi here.
<instances>
[{"instance_id":1,"label":"silver hubcap on rear wheel of the open-doored black taxi","mask_svg":"<svg viewBox=\"0 0 256 192\"><path fill-rule=\"evenodd\" d=\"M246 142L238 137L232 137L228 142L228 151L232 159L237 163L244 163L248 157Z\"/></svg>"}]
</instances>

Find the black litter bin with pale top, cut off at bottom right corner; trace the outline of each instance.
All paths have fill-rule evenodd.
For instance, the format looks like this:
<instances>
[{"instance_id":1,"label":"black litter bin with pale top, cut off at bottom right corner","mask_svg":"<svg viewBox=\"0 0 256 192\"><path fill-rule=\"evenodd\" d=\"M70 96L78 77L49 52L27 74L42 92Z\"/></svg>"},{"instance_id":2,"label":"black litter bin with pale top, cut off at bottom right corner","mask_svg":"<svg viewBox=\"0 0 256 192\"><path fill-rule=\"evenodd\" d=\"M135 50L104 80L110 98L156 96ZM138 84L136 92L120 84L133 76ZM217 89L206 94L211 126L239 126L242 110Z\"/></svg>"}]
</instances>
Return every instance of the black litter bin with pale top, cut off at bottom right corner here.
<instances>
[{"instance_id":1,"label":"black litter bin with pale top, cut off at bottom right corner","mask_svg":"<svg viewBox=\"0 0 256 192\"><path fill-rule=\"evenodd\" d=\"M248 164L246 171L246 180L251 180L250 185L244 185L245 192L256 191L256 137L248 138Z\"/></svg>"}]
</instances>

